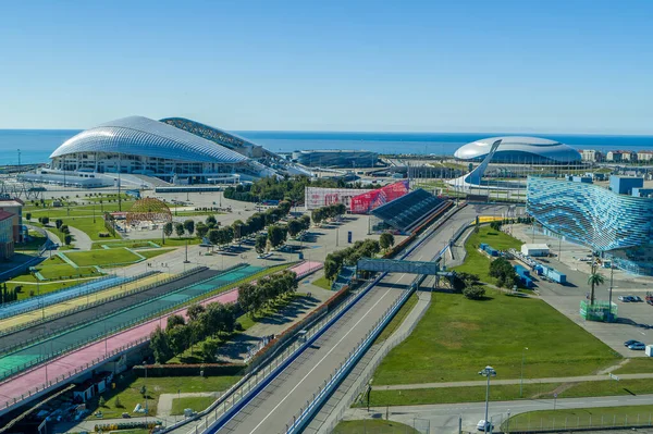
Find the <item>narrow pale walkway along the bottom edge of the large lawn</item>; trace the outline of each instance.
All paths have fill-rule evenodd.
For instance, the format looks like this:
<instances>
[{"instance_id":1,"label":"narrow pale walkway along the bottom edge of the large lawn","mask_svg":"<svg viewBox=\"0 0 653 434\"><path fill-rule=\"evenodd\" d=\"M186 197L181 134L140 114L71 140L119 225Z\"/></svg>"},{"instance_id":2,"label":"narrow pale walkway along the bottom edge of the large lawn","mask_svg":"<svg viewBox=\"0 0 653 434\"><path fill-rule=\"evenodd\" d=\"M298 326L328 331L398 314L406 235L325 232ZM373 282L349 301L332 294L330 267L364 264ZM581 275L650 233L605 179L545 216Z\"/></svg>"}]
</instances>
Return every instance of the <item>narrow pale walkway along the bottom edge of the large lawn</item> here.
<instances>
[{"instance_id":1,"label":"narrow pale walkway along the bottom edge of the large lawn","mask_svg":"<svg viewBox=\"0 0 653 434\"><path fill-rule=\"evenodd\" d=\"M648 374L620 374L616 375L619 380L640 380L653 379L653 373ZM523 379L523 384L540 384L540 383L584 383L584 382L602 382L615 381L609 375L581 375L581 376L557 376L550 379ZM502 384L520 384L520 379L514 380L492 380L493 385ZM446 382L446 383L420 383L420 384L393 384L389 386L374 385L374 390L410 390L419 388L444 388L444 387L485 387L485 381L469 381L469 382Z\"/></svg>"}]
</instances>

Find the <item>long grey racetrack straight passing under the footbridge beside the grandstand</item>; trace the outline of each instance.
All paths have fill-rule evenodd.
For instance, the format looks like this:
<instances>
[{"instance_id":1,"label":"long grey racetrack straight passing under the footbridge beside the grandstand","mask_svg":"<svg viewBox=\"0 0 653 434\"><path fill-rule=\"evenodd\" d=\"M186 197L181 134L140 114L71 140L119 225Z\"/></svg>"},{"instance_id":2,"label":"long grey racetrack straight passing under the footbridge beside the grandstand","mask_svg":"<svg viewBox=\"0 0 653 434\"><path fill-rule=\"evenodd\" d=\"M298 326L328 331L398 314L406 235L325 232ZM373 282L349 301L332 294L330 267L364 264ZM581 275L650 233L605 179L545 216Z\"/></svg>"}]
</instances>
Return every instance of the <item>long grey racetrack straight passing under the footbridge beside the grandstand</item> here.
<instances>
[{"instance_id":1,"label":"long grey racetrack straight passing under the footbridge beside the grandstand","mask_svg":"<svg viewBox=\"0 0 653 434\"><path fill-rule=\"evenodd\" d=\"M433 258L461 225L468 224L486 208L485 206L464 208L407 259ZM280 433L285 431L286 424L292 422L301 407L306 407L307 400L312 398L331 373L347 359L350 351L358 346L414 278L414 275L389 274L219 432ZM198 423L204 425L204 421ZM178 432L188 432L193 426L193 424L186 425Z\"/></svg>"}]
</instances>

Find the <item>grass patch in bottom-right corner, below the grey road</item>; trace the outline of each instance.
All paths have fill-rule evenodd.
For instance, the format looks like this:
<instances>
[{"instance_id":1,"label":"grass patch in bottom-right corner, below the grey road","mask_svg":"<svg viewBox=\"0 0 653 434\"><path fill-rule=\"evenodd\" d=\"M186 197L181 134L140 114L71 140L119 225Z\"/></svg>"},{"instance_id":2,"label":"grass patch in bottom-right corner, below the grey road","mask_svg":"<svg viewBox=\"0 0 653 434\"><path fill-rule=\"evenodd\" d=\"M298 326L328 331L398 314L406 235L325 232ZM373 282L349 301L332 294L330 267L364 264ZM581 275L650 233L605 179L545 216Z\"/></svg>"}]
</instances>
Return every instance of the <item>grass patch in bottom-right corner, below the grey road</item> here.
<instances>
[{"instance_id":1,"label":"grass patch in bottom-right corner, below the grey road","mask_svg":"<svg viewBox=\"0 0 653 434\"><path fill-rule=\"evenodd\" d=\"M529 411L516 414L509 422L501 425L502 431L518 430L559 430L564 426L623 426L630 424L649 424L652 420L653 406L597 407L556 410Z\"/></svg>"}]
</instances>

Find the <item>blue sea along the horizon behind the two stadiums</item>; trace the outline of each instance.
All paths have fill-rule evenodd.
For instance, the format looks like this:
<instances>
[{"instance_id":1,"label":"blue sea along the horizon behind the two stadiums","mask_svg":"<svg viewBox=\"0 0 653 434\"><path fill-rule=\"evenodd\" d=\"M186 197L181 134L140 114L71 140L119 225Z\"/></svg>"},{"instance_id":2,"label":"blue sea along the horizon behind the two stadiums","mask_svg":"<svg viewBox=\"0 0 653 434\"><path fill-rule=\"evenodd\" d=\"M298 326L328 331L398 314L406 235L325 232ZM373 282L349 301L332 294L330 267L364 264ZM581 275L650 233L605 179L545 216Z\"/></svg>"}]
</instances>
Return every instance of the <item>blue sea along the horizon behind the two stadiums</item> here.
<instances>
[{"instance_id":1,"label":"blue sea along the horizon behind the two stadiums","mask_svg":"<svg viewBox=\"0 0 653 434\"><path fill-rule=\"evenodd\" d=\"M0 129L0 165L48 162L50 153L78 129ZM577 149L653 150L653 136L497 133L325 133L235 132L274 152L298 149L366 149L381 153L451 156L460 146L485 137L527 135L559 140Z\"/></svg>"}]
</instances>

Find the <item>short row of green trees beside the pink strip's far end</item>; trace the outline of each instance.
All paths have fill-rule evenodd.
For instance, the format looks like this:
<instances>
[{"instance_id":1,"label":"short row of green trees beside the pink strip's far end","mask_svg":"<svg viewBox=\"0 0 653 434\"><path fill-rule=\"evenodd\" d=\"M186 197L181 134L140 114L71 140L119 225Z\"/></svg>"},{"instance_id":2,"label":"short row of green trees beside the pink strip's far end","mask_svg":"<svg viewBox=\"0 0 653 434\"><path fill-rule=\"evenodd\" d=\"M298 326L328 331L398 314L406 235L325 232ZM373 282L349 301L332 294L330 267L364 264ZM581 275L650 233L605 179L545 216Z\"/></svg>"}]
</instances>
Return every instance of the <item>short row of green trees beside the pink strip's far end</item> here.
<instances>
[{"instance_id":1,"label":"short row of green trees beside the pink strip's far end","mask_svg":"<svg viewBox=\"0 0 653 434\"><path fill-rule=\"evenodd\" d=\"M272 302L297 290L297 274L284 270L260 278L256 284L246 283L238 289L238 306L250 317L268 308Z\"/></svg>"}]
</instances>

